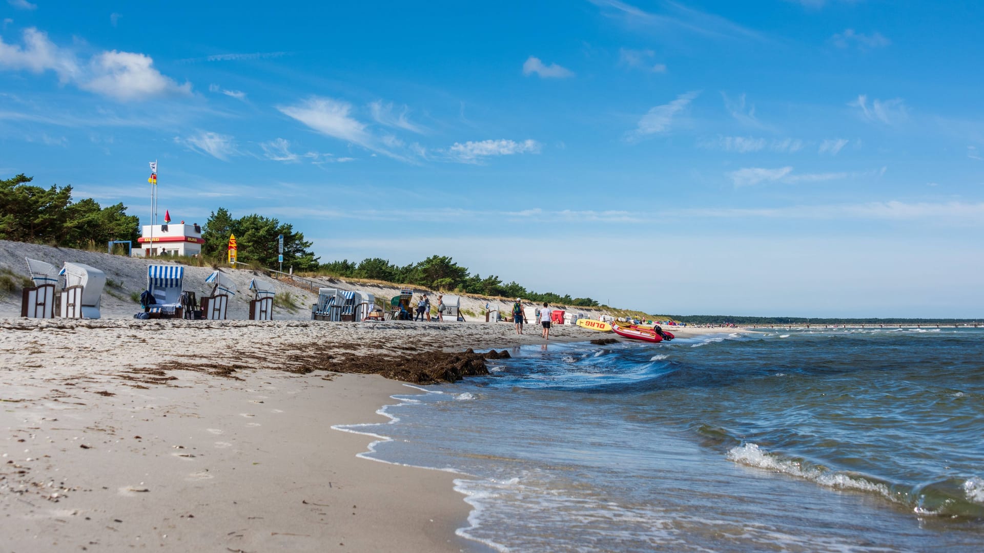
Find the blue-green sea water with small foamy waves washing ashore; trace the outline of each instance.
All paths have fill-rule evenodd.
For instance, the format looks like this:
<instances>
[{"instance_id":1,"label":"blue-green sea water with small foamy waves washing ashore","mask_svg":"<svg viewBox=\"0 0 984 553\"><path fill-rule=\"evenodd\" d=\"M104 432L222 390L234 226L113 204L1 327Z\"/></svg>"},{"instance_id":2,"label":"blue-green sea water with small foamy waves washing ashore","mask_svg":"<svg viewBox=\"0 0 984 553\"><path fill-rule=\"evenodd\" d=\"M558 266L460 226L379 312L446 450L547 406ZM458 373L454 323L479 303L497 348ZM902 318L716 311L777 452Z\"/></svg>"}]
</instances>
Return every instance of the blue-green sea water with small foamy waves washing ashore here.
<instances>
[{"instance_id":1,"label":"blue-green sea water with small foamy waves washing ashore","mask_svg":"<svg viewBox=\"0 0 984 553\"><path fill-rule=\"evenodd\" d=\"M599 335L600 336L600 335ZM984 330L512 350L369 457L461 472L510 551L984 551Z\"/></svg>"}]
</instances>

